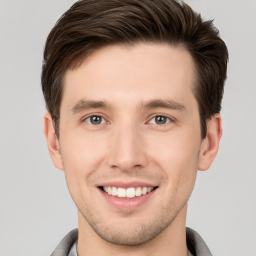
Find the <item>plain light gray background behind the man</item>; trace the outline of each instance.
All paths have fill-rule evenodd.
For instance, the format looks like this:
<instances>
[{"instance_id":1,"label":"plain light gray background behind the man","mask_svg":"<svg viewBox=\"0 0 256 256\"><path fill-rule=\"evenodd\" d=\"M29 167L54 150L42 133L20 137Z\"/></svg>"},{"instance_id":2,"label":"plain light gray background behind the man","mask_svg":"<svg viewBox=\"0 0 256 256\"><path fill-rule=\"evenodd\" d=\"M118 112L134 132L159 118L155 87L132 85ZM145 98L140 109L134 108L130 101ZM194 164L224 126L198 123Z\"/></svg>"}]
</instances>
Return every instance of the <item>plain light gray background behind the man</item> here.
<instances>
[{"instance_id":1,"label":"plain light gray background behind the man","mask_svg":"<svg viewBox=\"0 0 256 256\"><path fill-rule=\"evenodd\" d=\"M0 256L49 255L77 226L43 136L42 49L74 0L0 0ZM256 1L187 0L215 18L229 50L223 136L198 172L187 225L215 256L256 255Z\"/></svg>"}]
</instances>

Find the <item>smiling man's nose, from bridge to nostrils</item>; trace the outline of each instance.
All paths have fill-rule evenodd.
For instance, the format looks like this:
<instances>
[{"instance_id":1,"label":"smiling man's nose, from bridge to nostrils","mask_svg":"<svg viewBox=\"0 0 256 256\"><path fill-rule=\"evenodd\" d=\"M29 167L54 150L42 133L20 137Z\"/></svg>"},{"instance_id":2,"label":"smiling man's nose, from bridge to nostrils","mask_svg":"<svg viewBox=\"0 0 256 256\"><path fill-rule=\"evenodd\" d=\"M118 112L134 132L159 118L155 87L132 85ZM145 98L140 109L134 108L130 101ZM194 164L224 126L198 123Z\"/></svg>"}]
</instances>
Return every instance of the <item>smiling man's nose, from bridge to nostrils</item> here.
<instances>
[{"instance_id":1,"label":"smiling man's nose, from bridge to nostrils","mask_svg":"<svg viewBox=\"0 0 256 256\"><path fill-rule=\"evenodd\" d=\"M110 138L108 165L121 171L132 171L147 165L146 143L135 125L119 124Z\"/></svg>"}]
</instances>

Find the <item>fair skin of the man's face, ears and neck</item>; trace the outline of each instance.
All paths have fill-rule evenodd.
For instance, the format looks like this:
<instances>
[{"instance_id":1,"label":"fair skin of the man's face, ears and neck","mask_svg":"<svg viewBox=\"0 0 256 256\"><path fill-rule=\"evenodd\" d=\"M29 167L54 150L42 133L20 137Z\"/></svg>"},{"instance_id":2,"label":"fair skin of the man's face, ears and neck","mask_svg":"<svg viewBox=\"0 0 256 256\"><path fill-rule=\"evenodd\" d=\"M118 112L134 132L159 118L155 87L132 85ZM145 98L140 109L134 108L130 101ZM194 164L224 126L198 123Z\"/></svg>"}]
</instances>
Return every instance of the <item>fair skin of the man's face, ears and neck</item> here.
<instances>
[{"instance_id":1,"label":"fair skin of the man's face, ears and neck","mask_svg":"<svg viewBox=\"0 0 256 256\"><path fill-rule=\"evenodd\" d=\"M200 137L193 68L182 48L140 43L103 47L66 71L59 140L49 113L44 134L78 208L79 256L187 255L187 200L222 133L215 114ZM102 121L92 124L90 116ZM120 209L98 187L109 182L157 188L138 206Z\"/></svg>"}]
</instances>

